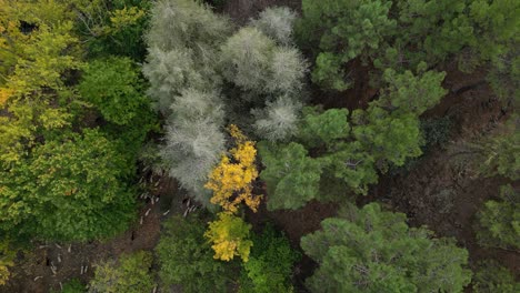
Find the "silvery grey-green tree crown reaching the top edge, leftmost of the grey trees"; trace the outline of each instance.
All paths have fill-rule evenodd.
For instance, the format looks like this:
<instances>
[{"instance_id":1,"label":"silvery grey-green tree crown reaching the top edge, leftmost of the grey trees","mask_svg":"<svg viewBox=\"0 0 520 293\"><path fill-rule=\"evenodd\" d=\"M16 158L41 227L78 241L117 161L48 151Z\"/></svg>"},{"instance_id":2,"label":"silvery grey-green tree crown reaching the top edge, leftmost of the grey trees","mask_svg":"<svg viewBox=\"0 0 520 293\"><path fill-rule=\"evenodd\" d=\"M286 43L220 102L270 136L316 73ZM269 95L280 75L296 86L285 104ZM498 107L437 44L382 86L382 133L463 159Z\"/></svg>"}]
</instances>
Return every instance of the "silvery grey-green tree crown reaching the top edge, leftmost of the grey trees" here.
<instances>
[{"instance_id":1,"label":"silvery grey-green tree crown reaching the top edge, leftmost of the grey trees","mask_svg":"<svg viewBox=\"0 0 520 293\"><path fill-rule=\"evenodd\" d=\"M197 16L197 17L193 17ZM218 48L232 26L207 6L193 0L162 0L151 10L144 77L156 109L170 114L171 103L183 89L214 91Z\"/></svg>"}]
</instances>

